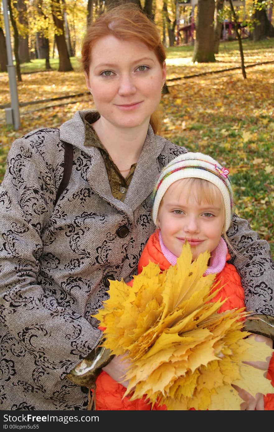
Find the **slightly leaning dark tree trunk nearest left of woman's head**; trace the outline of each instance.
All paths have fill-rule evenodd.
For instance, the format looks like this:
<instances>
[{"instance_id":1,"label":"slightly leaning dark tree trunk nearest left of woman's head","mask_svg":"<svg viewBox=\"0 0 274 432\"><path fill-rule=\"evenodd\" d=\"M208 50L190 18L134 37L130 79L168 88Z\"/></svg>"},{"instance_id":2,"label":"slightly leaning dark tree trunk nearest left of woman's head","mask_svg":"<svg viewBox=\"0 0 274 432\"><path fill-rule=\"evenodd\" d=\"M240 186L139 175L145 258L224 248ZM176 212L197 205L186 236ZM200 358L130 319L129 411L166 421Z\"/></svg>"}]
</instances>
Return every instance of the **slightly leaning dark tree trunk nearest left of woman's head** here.
<instances>
[{"instance_id":1,"label":"slightly leaning dark tree trunk nearest left of woman's head","mask_svg":"<svg viewBox=\"0 0 274 432\"><path fill-rule=\"evenodd\" d=\"M73 70L68 55L66 38L64 35L64 22L62 20L60 0L51 0L52 16L55 23L55 40L59 56L59 72Z\"/></svg>"}]
</instances>

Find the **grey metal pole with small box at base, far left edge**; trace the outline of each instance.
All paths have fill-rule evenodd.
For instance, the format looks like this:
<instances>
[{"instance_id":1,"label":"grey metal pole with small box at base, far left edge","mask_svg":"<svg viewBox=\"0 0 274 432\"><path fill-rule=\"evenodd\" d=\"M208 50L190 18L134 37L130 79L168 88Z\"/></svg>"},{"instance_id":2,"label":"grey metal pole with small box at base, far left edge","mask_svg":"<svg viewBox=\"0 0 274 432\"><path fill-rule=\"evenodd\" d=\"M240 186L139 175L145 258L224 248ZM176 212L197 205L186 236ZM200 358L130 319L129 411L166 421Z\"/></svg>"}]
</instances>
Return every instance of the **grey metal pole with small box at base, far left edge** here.
<instances>
[{"instance_id":1,"label":"grey metal pole with small box at base, far left edge","mask_svg":"<svg viewBox=\"0 0 274 432\"><path fill-rule=\"evenodd\" d=\"M3 2L5 32L6 32L6 53L8 57L7 70L9 74L10 102L11 102L11 108L5 109L6 123L13 124L14 129L17 130L20 126L20 115L19 115L19 102L18 102L15 66L13 65L13 55L12 55L11 41L10 41L10 23L9 23L9 16L8 16L8 4L6 0L2 0L2 2Z\"/></svg>"}]
</instances>

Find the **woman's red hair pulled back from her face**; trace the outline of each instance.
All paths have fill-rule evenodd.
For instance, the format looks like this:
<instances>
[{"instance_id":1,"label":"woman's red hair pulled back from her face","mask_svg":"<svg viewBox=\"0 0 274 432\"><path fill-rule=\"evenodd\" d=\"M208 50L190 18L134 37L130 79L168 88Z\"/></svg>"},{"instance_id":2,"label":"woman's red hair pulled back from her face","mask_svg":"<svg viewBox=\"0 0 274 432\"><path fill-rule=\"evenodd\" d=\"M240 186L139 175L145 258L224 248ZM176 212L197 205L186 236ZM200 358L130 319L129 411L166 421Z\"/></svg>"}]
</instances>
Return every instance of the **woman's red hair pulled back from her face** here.
<instances>
[{"instance_id":1,"label":"woman's red hair pulled back from her face","mask_svg":"<svg viewBox=\"0 0 274 432\"><path fill-rule=\"evenodd\" d=\"M128 3L103 13L87 28L82 43L81 59L87 76L89 75L93 45L99 39L110 35L122 40L138 39L142 41L150 50L155 52L161 67L163 67L166 54L156 25L140 11L138 6ZM158 110L151 115L150 124L154 133L159 133L161 119Z\"/></svg>"}]
</instances>

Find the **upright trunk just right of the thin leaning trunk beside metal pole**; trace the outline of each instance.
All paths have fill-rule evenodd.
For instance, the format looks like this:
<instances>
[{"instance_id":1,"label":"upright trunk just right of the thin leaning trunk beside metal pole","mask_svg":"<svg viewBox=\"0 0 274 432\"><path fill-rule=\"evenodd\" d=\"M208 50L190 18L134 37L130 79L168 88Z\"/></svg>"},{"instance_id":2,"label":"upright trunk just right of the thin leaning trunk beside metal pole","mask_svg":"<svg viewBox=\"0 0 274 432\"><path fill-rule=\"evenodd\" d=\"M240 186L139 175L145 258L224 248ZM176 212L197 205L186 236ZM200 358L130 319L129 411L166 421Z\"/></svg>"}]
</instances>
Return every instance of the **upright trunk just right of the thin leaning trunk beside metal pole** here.
<instances>
[{"instance_id":1,"label":"upright trunk just right of the thin leaning trunk beside metal pole","mask_svg":"<svg viewBox=\"0 0 274 432\"><path fill-rule=\"evenodd\" d=\"M28 63L29 58L29 24L27 18L27 6L24 0L13 3L18 10L18 21L22 29L19 34L18 56L20 63Z\"/></svg>"}]
</instances>

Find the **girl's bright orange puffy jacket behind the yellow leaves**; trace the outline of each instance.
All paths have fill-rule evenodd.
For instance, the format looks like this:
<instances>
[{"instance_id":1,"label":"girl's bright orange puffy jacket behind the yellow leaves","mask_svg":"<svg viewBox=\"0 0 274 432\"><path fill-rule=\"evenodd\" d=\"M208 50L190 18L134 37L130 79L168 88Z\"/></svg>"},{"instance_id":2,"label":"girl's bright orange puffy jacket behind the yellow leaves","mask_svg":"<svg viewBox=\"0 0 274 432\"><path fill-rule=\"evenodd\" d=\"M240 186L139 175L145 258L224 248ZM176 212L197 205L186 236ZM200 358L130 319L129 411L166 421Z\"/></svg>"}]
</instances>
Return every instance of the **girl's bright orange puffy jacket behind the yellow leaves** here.
<instances>
[{"instance_id":1,"label":"girl's bright orange puffy jacket behind the yellow leaves","mask_svg":"<svg viewBox=\"0 0 274 432\"><path fill-rule=\"evenodd\" d=\"M229 260L229 258L230 255L227 254L226 259ZM142 272L142 268L146 267L149 261L159 264L162 271L167 270L171 265L161 251L158 230L149 237L142 251L138 264L138 273ZM220 281L221 285L225 284L225 286L211 301L216 302L219 298L225 299L228 297L219 312L245 307L241 278L232 264L226 263L223 270L216 275L214 281ZM132 283L133 280L128 285L132 286ZM218 284L218 286L220 285ZM271 379L271 384L274 386L274 354L271 358L267 378ZM125 391L125 387L102 371L96 381L96 410L166 410L165 405L159 406L155 404L152 407L152 404L145 402L145 397L132 401L127 396L123 398ZM264 409L274 410L274 394L264 396Z\"/></svg>"}]
</instances>

